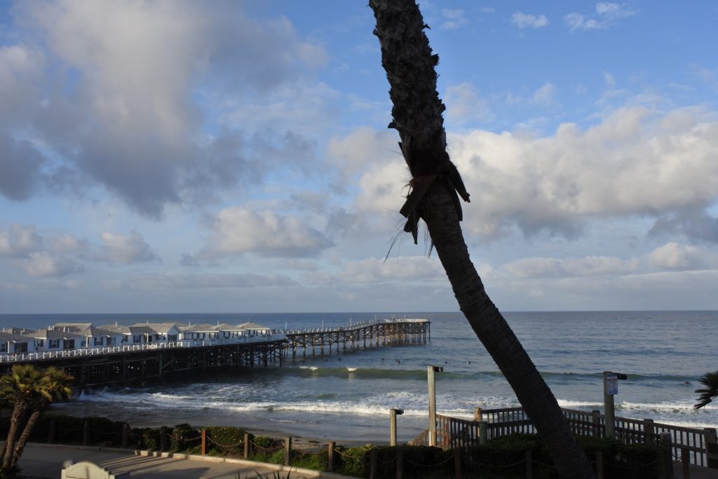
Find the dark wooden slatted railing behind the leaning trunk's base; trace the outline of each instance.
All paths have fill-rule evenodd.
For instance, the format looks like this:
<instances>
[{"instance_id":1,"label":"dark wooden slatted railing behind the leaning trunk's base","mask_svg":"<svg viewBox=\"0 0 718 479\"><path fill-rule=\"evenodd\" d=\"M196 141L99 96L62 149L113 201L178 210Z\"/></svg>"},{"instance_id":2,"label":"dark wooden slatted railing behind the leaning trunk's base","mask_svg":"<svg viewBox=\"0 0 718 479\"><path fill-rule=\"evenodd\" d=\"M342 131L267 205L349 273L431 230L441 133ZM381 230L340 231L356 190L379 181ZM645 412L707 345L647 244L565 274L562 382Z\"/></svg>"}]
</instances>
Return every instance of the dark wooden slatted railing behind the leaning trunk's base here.
<instances>
[{"instance_id":1,"label":"dark wooden slatted railing behind the leaning trunk's base","mask_svg":"<svg viewBox=\"0 0 718 479\"><path fill-rule=\"evenodd\" d=\"M600 414L600 411L561 410L564 411L574 434L605 437L605 416ZM437 444L444 449L482 444L507 434L535 432L531 419L528 419L520 407L476 408L473 420L437 414ZM615 437L624 444L658 444L663 432L671 434L671 452L674 459L681 460L687 455L691 464L718 468L718 440L714 428L698 429L663 424L654 422L653 419L615 417ZM426 442L427 434L424 432L411 444L424 445Z\"/></svg>"}]
</instances>

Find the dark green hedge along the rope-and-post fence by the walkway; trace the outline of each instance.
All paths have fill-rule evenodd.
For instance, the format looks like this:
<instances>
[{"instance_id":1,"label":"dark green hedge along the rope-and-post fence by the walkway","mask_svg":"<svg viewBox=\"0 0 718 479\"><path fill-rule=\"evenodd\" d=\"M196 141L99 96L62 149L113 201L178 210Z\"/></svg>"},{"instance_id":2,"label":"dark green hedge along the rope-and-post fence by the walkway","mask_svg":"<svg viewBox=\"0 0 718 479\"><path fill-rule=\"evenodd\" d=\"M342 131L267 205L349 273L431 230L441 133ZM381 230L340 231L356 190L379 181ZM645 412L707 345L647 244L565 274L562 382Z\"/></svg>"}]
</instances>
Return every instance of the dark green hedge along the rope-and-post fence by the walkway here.
<instances>
[{"instance_id":1,"label":"dark green hedge along the rope-and-post fence by the walkway","mask_svg":"<svg viewBox=\"0 0 718 479\"><path fill-rule=\"evenodd\" d=\"M9 431L9 418L0 419L0 436ZM130 427L101 417L46 416L37 421L32 442L123 447L135 450L236 457L290 465L358 478L557 478L548 450L536 434L510 434L461 450L428 446L346 447L332 442L302 441L253 435L241 427ZM579 445L600 461L610 478L661 478L659 445L625 445L600 437L577 437ZM287 442L289 441L289 446ZM530 475L529 475L530 474Z\"/></svg>"}]
</instances>

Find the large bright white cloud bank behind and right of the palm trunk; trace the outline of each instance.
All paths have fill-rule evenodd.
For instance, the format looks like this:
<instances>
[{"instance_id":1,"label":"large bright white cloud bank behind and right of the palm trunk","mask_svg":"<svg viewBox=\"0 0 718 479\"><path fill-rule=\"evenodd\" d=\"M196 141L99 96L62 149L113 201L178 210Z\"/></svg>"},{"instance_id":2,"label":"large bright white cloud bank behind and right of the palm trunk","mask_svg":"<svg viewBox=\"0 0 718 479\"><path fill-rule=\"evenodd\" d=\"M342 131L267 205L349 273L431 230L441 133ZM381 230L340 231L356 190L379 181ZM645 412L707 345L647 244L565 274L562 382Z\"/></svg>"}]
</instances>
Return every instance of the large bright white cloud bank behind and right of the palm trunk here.
<instances>
[{"instance_id":1,"label":"large bright white cloud bank behind and right of the palm trunk","mask_svg":"<svg viewBox=\"0 0 718 479\"><path fill-rule=\"evenodd\" d=\"M561 124L547 136L472 130L447 134L447 144L472 195L464 208L470 236L498 238L518 228L526 236L575 238L589 220L635 215L663 218L656 231L718 235L710 217L673 216L700 212L718 197L711 111L627 107L587 129ZM401 158L370 165L353 209L398 218L408 180Z\"/></svg>"}]
</instances>

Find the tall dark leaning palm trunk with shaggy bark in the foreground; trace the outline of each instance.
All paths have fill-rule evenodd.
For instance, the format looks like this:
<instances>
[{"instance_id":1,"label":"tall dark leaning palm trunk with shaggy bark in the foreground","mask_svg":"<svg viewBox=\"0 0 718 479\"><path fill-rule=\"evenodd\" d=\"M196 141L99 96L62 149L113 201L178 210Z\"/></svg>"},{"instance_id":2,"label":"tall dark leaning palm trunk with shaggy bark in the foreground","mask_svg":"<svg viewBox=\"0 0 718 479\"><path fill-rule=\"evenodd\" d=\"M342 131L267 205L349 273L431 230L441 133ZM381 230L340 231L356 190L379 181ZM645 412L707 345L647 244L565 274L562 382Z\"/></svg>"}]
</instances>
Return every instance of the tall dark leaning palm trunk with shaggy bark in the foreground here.
<instances>
[{"instance_id":1,"label":"tall dark leaning palm trunk with shaggy bark in the foreground","mask_svg":"<svg viewBox=\"0 0 718 479\"><path fill-rule=\"evenodd\" d=\"M460 309L541 434L561 478L592 478L591 465L554 394L486 294L469 257L459 223L459 196L468 202L469 194L447 154L445 107L434 70L439 57L432 55L419 7L414 0L370 0L369 6L376 17L374 34L391 86L393 121L389 127L399 133L399 147L412 176L401 208L407 218L404 231L411 232L416 243L419 219L426 223Z\"/></svg>"}]
</instances>

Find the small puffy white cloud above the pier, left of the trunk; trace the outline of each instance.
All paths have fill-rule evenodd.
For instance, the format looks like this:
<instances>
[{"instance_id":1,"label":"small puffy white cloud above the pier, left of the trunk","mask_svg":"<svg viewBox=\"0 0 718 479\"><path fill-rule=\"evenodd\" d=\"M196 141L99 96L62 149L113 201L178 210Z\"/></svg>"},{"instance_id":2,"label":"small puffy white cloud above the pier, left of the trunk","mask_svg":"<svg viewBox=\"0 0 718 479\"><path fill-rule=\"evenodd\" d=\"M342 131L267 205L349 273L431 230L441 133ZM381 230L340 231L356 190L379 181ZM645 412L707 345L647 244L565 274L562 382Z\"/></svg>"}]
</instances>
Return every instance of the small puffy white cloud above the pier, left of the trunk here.
<instances>
[{"instance_id":1,"label":"small puffy white cloud above the pier, left of the trunk","mask_svg":"<svg viewBox=\"0 0 718 479\"><path fill-rule=\"evenodd\" d=\"M332 242L300 218L226 208L210 222L213 232L208 247L198 257L217 258L257 253L264 256L315 256Z\"/></svg>"}]
</instances>

